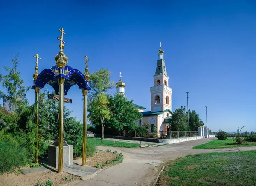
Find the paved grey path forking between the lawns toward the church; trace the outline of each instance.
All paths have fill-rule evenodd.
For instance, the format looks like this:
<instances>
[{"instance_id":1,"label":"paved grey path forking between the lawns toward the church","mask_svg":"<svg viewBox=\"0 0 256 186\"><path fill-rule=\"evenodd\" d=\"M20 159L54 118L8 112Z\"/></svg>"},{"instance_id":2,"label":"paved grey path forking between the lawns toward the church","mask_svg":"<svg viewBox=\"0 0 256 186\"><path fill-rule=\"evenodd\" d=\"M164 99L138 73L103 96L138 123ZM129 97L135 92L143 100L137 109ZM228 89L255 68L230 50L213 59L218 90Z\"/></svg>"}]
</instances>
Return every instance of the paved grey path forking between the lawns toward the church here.
<instances>
[{"instance_id":1,"label":"paved grey path forking between the lawns toward the church","mask_svg":"<svg viewBox=\"0 0 256 186\"><path fill-rule=\"evenodd\" d=\"M124 155L123 162L72 186L152 186L159 172L156 165L164 161L174 160L190 154L256 150L256 146L227 149L192 149L193 146L207 143L212 139L215 138L192 140L152 148L98 146L98 149L122 152Z\"/></svg>"}]
</instances>

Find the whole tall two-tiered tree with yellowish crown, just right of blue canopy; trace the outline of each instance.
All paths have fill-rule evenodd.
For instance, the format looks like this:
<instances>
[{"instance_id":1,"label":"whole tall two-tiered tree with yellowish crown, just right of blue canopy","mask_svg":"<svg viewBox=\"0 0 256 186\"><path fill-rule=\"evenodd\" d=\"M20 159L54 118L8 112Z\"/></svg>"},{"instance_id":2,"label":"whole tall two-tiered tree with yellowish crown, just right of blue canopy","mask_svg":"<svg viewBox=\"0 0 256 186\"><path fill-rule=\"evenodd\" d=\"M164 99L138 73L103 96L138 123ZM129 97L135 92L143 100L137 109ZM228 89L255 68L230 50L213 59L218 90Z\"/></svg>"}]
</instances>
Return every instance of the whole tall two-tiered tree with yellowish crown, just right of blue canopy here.
<instances>
[{"instance_id":1,"label":"whole tall two-tiered tree with yellowish crown, just right of blue canopy","mask_svg":"<svg viewBox=\"0 0 256 186\"><path fill-rule=\"evenodd\" d=\"M102 140L104 140L105 121L109 119L110 110L108 108L108 89L113 88L114 82L111 82L111 72L108 69L99 69L93 72L90 79L91 91L88 99L88 118L91 123L101 125Z\"/></svg>"}]
</instances>

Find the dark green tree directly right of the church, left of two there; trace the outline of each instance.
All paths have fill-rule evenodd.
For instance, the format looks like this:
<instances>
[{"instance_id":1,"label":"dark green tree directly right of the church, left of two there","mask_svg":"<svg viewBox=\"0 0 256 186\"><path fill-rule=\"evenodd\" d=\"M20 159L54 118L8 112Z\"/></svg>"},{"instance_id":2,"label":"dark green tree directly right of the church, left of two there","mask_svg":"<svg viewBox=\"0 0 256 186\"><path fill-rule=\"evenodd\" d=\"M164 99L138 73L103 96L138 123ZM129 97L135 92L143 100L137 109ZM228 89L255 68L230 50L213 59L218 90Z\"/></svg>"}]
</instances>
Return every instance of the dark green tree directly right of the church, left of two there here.
<instances>
[{"instance_id":1,"label":"dark green tree directly right of the church, left of two there","mask_svg":"<svg viewBox=\"0 0 256 186\"><path fill-rule=\"evenodd\" d=\"M188 130L187 115L185 113L186 107L181 106L178 109L175 109L172 114L172 131L186 131Z\"/></svg>"}]
</instances>

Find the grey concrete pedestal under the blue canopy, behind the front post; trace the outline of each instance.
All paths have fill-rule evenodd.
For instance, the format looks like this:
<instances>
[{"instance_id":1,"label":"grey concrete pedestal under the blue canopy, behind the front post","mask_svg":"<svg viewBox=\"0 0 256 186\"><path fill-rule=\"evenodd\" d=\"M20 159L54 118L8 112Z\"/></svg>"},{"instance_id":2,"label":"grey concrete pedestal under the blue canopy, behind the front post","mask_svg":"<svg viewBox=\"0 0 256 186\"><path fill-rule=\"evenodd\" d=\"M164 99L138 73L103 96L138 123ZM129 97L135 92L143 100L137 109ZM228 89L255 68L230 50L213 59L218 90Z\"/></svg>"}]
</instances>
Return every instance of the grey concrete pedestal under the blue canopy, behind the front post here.
<instances>
[{"instance_id":1,"label":"grey concrete pedestal under the blue canopy, behind the front post","mask_svg":"<svg viewBox=\"0 0 256 186\"><path fill-rule=\"evenodd\" d=\"M48 146L48 165L58 169L58 139L52 145ZM63 139L63 166L73 164L73 146L68 145Z\"/></svg>"}]
</instances>

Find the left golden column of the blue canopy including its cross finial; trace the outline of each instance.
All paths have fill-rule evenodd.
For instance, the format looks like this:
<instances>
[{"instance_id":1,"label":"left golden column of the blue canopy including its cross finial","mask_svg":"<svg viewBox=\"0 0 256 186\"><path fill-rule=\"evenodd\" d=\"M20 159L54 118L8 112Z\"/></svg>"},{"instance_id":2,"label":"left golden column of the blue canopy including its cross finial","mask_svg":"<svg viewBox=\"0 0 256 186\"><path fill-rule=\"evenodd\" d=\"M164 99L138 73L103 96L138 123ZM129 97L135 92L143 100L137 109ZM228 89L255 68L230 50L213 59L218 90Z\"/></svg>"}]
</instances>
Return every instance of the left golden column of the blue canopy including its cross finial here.
<instances>
[{"instance_id":1,"label":"left golden column of the blue canopy including its cross finial","mask_svg":"<svg viewBox=\"0 0 256 186\"><path fill-rule=\"evenodd\" d=\"M36 66L35 66L35 73L33 74L33 80L37 80L38 77L38 59L41 60L38 54L34 55L36 58ZM38 100L39 100L39 87L35 87L35 124L36 124L36 152L35 152L35 163L38 163L38 149L39 149L39 139L38 139L38 134L39 134L39 111L38 111Z\"/></svg>"}]
</instances>

